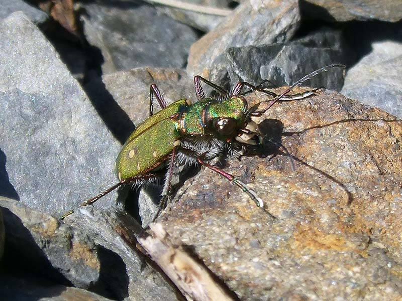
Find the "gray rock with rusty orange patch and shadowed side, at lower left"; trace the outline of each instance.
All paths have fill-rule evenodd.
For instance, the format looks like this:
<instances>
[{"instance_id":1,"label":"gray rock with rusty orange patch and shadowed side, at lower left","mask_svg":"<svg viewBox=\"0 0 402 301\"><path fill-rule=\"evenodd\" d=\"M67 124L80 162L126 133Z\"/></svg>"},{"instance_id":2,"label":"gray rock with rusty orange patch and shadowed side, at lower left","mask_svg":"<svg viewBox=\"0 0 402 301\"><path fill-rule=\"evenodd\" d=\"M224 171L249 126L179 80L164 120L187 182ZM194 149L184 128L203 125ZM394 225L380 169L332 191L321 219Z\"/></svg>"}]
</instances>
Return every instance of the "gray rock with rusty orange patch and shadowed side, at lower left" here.
<instances>
[{"instance_id":1,"label":"gray rock with rusty orange patch and shadowed side, at lower left","mask_svg":"<svg viewBox=\"0 0 402 301\"><path fill-rule=\"evenodd\" d=\"M98 280L101 262L89 236L15 200L0 197L0 207L8 261L25 262L27 270L59 283L67 279L81 288L89 288Z\"/></svg>"}]
</instances>

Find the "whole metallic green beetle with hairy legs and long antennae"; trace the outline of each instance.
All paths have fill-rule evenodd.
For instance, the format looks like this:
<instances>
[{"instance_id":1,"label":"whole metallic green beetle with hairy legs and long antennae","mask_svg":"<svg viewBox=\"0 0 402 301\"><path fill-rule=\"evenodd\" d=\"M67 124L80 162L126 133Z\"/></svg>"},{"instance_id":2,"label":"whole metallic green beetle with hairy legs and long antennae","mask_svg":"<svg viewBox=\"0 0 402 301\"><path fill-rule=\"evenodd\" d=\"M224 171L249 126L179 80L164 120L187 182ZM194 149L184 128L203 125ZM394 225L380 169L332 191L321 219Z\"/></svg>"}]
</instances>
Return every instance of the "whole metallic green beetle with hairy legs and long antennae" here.
<instances>
[{"instance_id":1,"label":"whole metallic green beetle with hairy legs and long antennae","mask_svg":"<svg viewBox=\"0 0 402 301\"><path fill-rule=\"evenodd\" d=\"M247 188L246 184L207 162L220 155L236 153L239 146L259 144L258 126L251 120L251 117L261 116L279 100L302 99L312 95L317 89L286 96L295 86L335 67L345 68L342 64L332 64L317 69L296 81L280 95L247 82L239 82L231 91L226 91L197 75L194 76L194 89L198 101L194 104L189 99L183 98L167 105L163 94L155 84L152 84L149 97L149 118L138 125L129 136L115 163L115 171L120 182L83 202L78 208L93 204L122 185L139 186L156 181L160 178L159 170L167 164L162 201L156 215L158 216L164 207L164 200L170 192L174 167L195 164L212 170L238 186L258 207L272 216L265 210L262 200L254 191ZM207 97L202 82L215 89L220 96ZM260 91L273 99L270 102L267 100L258 102L249 109L246 99L241 94L244 87ZM155 114L153 113L154 98L161 107L161 110ZM259 105L263 102L269 102L268 106L258 110ZM73 210L65 213L61 219L71 213Z\"/></svg>"}]
</instances>

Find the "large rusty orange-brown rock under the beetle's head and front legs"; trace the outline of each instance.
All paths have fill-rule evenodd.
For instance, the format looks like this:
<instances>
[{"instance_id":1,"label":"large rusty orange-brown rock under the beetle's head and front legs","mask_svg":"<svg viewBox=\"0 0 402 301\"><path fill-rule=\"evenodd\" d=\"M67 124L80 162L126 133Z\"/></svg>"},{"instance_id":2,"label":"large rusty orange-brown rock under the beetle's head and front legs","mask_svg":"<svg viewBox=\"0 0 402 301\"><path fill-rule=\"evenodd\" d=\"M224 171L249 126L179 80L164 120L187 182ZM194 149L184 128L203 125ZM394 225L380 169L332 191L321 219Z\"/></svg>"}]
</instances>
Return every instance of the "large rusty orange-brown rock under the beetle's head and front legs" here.
<instances>
[{"instance_id":1,"label":"large rusty orange-brown rock under the beetle's head and front legs","mask_svg":"<svg viewBox=\"0 0 402 301\"><path fill-rule=\"evenodd\" d=\"M256 121L295 170L269 142L225 170L277 218L203 170L159 219L170 238L242 300L401 298L402 121L331 91Z\"/></svg>"}]
</instances>

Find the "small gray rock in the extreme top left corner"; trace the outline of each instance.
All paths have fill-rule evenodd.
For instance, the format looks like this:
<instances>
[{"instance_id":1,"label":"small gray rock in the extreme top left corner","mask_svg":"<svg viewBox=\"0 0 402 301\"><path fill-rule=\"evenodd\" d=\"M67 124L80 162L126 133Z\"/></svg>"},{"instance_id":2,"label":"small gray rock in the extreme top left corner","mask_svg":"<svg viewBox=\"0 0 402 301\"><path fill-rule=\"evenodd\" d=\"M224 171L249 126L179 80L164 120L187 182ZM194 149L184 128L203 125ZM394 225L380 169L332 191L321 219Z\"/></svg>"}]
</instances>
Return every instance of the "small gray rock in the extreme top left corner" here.
<instances>
[{"instance_id":1,"label":"small gray rock in the extreme top left corner","mask_svg":"<svg viewBox=\"0 0 402 301\"><path fill-rule=\"evenodd\" d=\"M0 19L6 18L12 13L22 11L33 23L45 22L48 15L38 8L34 8L23 0L0 0Z\"/></svg>"}]
</instances>

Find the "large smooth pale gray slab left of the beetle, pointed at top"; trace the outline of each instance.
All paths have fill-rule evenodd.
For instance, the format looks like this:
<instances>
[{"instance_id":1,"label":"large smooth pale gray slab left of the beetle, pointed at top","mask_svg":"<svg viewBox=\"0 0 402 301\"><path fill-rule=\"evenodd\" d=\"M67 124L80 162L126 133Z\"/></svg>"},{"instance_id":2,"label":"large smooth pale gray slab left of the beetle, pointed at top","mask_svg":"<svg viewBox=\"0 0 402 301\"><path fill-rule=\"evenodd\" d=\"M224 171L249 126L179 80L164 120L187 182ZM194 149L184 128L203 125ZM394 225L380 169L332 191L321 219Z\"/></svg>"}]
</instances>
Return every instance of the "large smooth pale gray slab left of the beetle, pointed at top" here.
<instances>
[{"instance_id":1,"label":"large smooth pale gray slab left of the beetle, pointed at top","mask_svg":"<svg viewBox=\"0 0 402 301\"><path fill-rule=\"evenodd\" d=\"M119 142L22 13L0 24L0 65L0 194L60 214L114 183Z\"/></svg>"}]
</instances>

